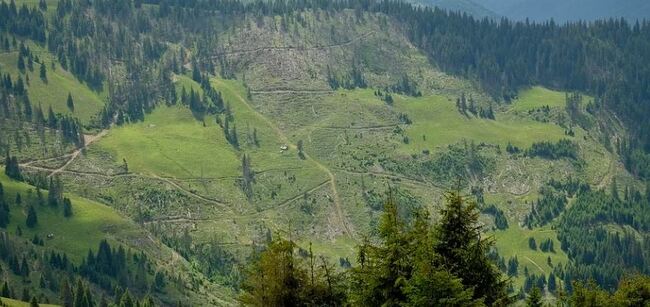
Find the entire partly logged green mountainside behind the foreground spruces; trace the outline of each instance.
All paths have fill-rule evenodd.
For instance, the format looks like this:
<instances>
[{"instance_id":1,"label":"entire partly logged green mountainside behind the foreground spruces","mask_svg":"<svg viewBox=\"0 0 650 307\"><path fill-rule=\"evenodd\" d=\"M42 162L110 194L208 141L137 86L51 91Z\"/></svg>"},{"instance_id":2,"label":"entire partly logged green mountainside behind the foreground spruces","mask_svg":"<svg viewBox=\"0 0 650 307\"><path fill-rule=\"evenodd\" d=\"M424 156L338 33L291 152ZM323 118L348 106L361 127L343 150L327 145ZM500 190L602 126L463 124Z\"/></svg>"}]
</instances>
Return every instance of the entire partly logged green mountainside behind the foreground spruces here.
<instances>
[{"instance_id":1,"label":"entire partly logged green mountainside behind the foreground spruces","mask_svg":"<svg viewBox=\"0 0 650 307\"><path fill-rule=\"evenodd\" d=\"M278 237L345 271L388 194L408 224L459 190L511 294L650 273L647 23L365 0L4 1L0 17L0 226L30 239L3 267L65 253L96 300L233 304ZM59 244L82 212L93 235ZM96 259L120 248L110 275ZM60 303L20 268L13 289Z\"/></svg>"}]
</instances>

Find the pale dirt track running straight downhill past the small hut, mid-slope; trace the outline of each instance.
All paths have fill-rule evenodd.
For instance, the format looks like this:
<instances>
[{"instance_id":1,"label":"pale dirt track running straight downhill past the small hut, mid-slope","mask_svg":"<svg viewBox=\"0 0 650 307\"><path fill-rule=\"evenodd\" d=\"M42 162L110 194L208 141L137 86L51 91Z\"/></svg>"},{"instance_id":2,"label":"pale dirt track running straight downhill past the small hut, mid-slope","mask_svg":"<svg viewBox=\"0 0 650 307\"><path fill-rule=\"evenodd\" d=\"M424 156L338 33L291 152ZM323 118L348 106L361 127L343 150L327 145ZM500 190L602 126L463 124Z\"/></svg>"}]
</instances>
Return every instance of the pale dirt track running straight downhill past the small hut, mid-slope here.
<instances>
[{"instance_id":1,"label":"pale dirt track running straight downhill past the small hut, mid-slope","mask_svg":"<svg viewBox=\"0 0 650 307\"><path fill-rule=\"evenodd\" d=\"M223 86L229 87L229 85L227 85L227 84L223 84ZM286 135L284 135L284 132L282 132L282 130L280 130L280 128L276 127L273 124L273 122L271 122L268 118L266 118L266 116L264 116L264 115L260 114L259 112L257 112L257 110L255 110L255 108L253 108L250 104L248 104L246 99L244 99L241 95L239 95L239 93L237 93L237 91L233 90L232 88L230 88L230 89L231 89L232 93L235 95L235 97L237 97L237 99L239 99L239 101L250 112L255 114L262 122L266 123L275 132L275 134L280 138L280 140L283 143L287 144L292 149L297 148L297 146L295 144L293 144ZM320 162L318 162L317 160L313 159L306 152L304 154L305 154L305 160L311 161L312 163L314 163L314 165L316 165L317 168L319 168L323 172L325 172L327 174L327 176L330 178L329 181L330 181L331 186L332 186L332 196L333 196L333 200L334 200L334 206L335 206L335 209L336 209L336 215L338 216L339 222L341 223L341 226L343 226L345 233L350 238L354 239L354 235L353 235L352 231L350 230L350 227L348 226L348 223L346 222L345 216L343 215L343 210L341 209L341 200L339 198L339 192L338 192L338 190L336 188L336 178L334 176L334 173L332 173L332 171L329 168L327 168L325 165L323 165Z\"/></svg>"}]
</instances>

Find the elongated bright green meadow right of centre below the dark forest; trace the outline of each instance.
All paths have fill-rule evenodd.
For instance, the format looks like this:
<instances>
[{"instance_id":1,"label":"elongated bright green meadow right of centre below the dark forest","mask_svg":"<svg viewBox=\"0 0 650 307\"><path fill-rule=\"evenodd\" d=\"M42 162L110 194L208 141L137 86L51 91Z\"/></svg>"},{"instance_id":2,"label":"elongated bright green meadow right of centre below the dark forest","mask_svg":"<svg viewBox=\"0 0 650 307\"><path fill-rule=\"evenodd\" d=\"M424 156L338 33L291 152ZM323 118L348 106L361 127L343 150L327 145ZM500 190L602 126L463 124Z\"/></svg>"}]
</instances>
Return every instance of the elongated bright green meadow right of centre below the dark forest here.
<instances>
[{"instance_id":1,"label":"elongated bright green meadow right of centre below the dark forest","mask_svg":"<svg viewBox=\"0 0 650 307\"><path fill-rule=\"evenodd\" d=\"M413 124L406 128L410 143L405 147L418 152L467 139L498 144L508 142L521 148L543 140L557 141L564 130L554 124L497 114L497 120L466 117L454 102L442 96L396 98L395 108L407 113ZM425 136L425 138L423 138Z\"/></svg>"}]
</instances>

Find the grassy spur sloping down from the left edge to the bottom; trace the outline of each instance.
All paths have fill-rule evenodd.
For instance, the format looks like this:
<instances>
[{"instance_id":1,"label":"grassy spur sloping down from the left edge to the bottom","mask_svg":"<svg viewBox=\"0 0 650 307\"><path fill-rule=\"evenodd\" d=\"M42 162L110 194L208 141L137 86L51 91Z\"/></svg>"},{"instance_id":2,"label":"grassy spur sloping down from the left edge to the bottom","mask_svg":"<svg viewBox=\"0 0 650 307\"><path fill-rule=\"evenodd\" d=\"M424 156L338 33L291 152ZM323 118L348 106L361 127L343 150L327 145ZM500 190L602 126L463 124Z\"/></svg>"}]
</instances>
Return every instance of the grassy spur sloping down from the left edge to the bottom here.
<instances>
[{"instance_id":1,"label":"grassy spur sloping down from the left edge to the bottom","mask_svg":"<svg viewBox=\"0 0 650 307\"><path fill-rule=\"evenodd\" d=\"M47 205L42 207L34 205L37 211L38 224L33 229L27 228L25 225L26 204L35 203L35 188L9 179L4 175L4 169L0 174L0 182L3 185L6 199L15 199L16 193L20 193L22 197L23 205L21 207L10 205L11 220L7 226L7 231L11 234L16 234L16 229L20 226L23 238L31 239L34 235L38 235L45 241L46 248L49 247L65 252L69 259L76 264L79 264L86 257L88 250L96 250L99 242L107 239L113 246L119 243L133 250L147 253L158 266L158 268L154 269L169 269L172 270L170 272L179 274L178 276L181 278L191 277L199 280L202 285L205 282L202 275L195 275L194 272L190 272L191 269L187 267L188 264L181 260L179 255L174 254L158 241L154 241L149 233L133 221L122 217L106 205L69 193L66 193L65 197L70 198L72 201L74 213L72 217L67 219L63 217L62 208L60 207L51 208ZM43 191L43 194L47 199L47 191ZM50 233L54 234L54 238L46 239L46 236ZM36 283L38 279L32 281ZM173 295L176 293L175 289L169 287L166 291L168 291L167 294L170 297L174 297ZM195 291L203 296L197 296L196 298L200 300L194 303L203 304L205 303L203 299L209 298L212 303L232 304L231 298L233 294L229 290L201 286L200 289L195 289Z\"/></svg>"}]
</instances>

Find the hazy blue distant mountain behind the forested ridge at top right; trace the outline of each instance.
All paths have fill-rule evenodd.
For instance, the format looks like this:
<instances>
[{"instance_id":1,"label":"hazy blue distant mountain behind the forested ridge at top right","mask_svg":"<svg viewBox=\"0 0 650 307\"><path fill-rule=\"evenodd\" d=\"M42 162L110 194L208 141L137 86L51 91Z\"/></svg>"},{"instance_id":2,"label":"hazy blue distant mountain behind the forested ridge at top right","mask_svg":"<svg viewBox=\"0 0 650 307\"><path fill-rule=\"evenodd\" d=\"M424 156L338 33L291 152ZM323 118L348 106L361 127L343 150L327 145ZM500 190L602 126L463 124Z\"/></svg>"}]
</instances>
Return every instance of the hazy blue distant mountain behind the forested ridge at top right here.
<instances>
[{"instance_id":1,"label":"hazy blue distant mountain behind the forested ridge at top right","mask_svg":"<svg viewBox=\"0 0 650 307\"><path fill-rule=\"evenodd\" d=\"M558 22L625 17L650 19L649 0L472 0L501 16ZM464 2L464 1L460 1Z\"/></svg>"}]
</instances>

